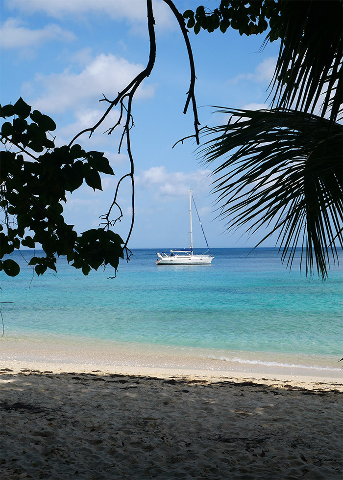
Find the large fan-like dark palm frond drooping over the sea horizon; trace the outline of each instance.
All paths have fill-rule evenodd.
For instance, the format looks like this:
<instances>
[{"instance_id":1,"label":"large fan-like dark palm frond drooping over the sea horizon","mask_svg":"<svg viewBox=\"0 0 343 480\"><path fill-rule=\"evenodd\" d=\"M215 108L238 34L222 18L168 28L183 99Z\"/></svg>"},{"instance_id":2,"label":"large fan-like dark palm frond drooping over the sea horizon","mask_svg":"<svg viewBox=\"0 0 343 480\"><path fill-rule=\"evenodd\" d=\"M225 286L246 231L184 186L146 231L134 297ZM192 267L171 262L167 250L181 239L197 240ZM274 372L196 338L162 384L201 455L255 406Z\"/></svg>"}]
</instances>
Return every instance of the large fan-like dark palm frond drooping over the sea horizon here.
<instances>
[{"instance_id":1,"label":"large fan-like dark palm frond drooping over the sea horizon","mask_svg":"<svg viewBox=\"0 0 343 480\"><path fill-rule=\"evenodd\" d=\"M198 152L204 162L221 159L213 192L226 227L265 228L259 244L277 232L289 267L300 246L306 274L316 264L325 278L330 253L338 261L343 247L342 125L296 110L218 112L232 117L205 133Z\"/></svg>"}]
</instances>

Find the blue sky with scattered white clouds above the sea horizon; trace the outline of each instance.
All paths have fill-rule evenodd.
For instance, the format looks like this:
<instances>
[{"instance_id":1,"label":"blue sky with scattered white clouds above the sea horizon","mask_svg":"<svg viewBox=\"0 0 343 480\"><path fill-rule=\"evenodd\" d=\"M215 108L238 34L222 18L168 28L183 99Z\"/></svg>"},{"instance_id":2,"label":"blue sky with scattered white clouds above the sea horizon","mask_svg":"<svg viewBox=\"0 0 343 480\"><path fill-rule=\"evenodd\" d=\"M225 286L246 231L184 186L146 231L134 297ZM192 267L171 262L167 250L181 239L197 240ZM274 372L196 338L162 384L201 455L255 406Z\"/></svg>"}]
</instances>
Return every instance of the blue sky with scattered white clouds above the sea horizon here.
<instances>
[{"instance_id":1,"label":"blue sky with scattered white clouds above the sea horizon","mask_svg":"<svg viewBox=\"0 0 343 480\"><path fill-rule=\"evenodd\" d=\"M183 12L216 1L175 1ZM96 123L105 105L102 94L116 97L148 60L147 13L144 0L2 0L1 104L20 96L50 115L57 124L56 145L69 143L75 133ZM199 164L192 140L172 145L193 133L193 115L183 115L190 70L184 40L168 6L153 1L157 55L150 77L133 104L131 131L136 171L136 221L131 248L188 246L188 188L212 247L254 246L265 232L251 236L243 231L225 233L216 218L211 194L211 170ZM211 105L267 106L266 92L279 50L278 42L261 52L265 36L241 37L235 30L190 34L196 63L196 101L202 126L224 123ZM129 171L123 149L118 155L121 131L103 134L113 126L113 110L104 126L88 139L77 140L86 150L105 152L115 177L103 176L103 191L83 185L69 196L68 223L78 232L96 228L99 215L111 205L116 182ZM130 220L130 186L123 183L119 200L124 218L114 230L126 237ZM197 222L194 220L194 223ZM195 228L195 246L203 247ZM269 240L264 246L274 246Z\"/></svg>"}]
</instances>

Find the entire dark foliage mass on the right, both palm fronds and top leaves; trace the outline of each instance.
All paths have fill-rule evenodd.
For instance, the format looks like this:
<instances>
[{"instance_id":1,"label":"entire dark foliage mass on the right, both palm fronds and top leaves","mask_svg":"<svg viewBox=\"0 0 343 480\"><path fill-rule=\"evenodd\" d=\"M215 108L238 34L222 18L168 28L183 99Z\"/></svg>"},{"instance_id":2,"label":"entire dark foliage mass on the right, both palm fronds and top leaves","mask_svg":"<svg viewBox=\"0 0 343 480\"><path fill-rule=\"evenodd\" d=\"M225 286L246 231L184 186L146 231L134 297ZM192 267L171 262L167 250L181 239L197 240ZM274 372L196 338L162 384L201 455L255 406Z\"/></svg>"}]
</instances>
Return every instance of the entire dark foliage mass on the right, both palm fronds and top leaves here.
<instances>
[{"instance_id":1,"label":"entire dark foliage mass on the right, both palm fronds and top leaves","mask_svg":"<svg viewBox=\"0 0 343 480\"><path fill-rule=\"evenodd\" d=\"M222 108L242 118L204 129L211 139L200 152L222 161L213 190L227 227L264 227L265 239L278 232L283 260L291 266L300 246L306 271L316 263L323 278L342 246L342 13L340 0L222 0L213 12L184 13L195 33L231 26L251 35L269 22L265 43L281 39L271 109Z\"/></svg>"}]
</instances>

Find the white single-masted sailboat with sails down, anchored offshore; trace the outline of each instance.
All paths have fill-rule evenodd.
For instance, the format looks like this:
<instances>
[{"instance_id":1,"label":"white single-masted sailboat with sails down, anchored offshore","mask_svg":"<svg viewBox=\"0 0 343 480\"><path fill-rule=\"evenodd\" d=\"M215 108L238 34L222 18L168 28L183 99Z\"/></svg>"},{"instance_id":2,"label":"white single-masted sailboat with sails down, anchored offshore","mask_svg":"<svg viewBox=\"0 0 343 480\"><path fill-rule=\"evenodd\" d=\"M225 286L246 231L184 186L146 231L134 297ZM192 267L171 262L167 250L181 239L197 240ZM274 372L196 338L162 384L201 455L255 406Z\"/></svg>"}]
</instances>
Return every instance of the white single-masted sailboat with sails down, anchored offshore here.
<instances>
[{"instance_id":1,"label":"white single-masted sailboat with sails down, anchored offshore","mask_svg":"<svg viewBox=\"0 0 343 480\"><path fill-rule=\"evenodd\" d=\"M190 248L179 248L178 250L170 250L170 253L159 253L157 252L157 261L156 265L210 265L214 256L211 255L210 247L208 246L204 229L202 228L201 220L199 213L196 208L196 202L194 201L192 190L189 191L189 212L190 212L190 224L191 224L191 246ZM192 223L192 201L196 208L197 217L200 222L202 233L207 245L207 250L201 255L196 255L193 248L193 223Z\"/></svg>"}]
</instances>

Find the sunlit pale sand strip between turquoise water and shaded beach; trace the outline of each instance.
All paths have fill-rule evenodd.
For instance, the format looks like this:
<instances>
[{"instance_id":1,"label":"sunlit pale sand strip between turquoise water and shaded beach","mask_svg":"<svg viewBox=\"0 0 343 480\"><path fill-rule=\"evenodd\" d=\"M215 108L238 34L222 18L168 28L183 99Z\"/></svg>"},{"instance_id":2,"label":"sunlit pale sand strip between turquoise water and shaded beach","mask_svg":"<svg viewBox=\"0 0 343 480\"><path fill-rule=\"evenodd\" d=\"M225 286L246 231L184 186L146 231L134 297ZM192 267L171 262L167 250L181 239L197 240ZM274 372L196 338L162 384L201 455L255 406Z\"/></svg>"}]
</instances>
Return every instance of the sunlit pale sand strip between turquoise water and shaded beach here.
<instances>
[{"instance_id":1,"label":"sunlit pale sand strip between turquoise water and shaded beach","mask_svg":"<svg viewBox=\"0 0 343 480\"><path fill-rule=\"evenodd\" d=\"M56 339L55 339L56 340ZM0 369L13 373L26 371L51 373L121 374L154 378L202 379L206 382L251 380L259 383L291 383L313 389L343 390L343 370L325 370L268 362L239 363L208 357L196 357L192 349L156 346L127 346L109 343L88 345L59 339L56 342L2 339ZM115 348L114 348L115 345ZM102 348L101 348L102 347ZM269 362L272 363L272 362Z\"/></svg>"}]
</instances>

